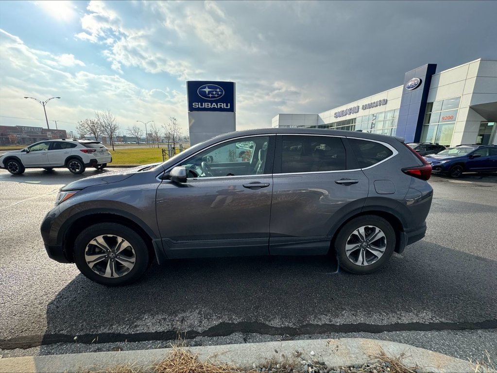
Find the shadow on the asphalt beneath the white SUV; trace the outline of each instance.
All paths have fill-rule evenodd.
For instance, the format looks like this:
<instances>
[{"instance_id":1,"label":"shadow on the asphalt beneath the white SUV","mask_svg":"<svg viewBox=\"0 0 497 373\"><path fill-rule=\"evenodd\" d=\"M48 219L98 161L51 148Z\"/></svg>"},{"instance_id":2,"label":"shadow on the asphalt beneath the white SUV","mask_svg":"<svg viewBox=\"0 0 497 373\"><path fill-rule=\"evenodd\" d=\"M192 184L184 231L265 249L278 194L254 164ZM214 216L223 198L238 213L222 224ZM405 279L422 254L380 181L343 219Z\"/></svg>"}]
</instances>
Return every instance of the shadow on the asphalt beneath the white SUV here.
<instances>
[{"instance_id":1,"label":"shadow on the asphalt beneath the white SUV","mask_svg":"<svg viewBox=\"0 0 497 373\"><path fill-rule=\"evenodd\" d=\"M0 171L0 181L42 185L69 184L72 181L111 172L113 169L97 170L87 168L82 174L73 174L65 168L44 170L28 169L21 175L12 175L5 170Z\"/></svg>"}]
</instances>

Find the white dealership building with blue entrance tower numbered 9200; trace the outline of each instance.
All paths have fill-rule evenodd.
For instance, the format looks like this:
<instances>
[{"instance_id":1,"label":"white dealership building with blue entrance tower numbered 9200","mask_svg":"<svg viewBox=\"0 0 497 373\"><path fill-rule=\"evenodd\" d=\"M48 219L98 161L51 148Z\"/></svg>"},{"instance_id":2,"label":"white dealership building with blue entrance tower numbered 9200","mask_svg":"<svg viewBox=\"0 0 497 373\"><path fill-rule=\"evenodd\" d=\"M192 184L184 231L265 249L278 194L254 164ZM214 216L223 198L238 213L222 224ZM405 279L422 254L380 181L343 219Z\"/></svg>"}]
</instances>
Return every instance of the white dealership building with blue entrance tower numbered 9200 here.
<instances>
[{"instance_id":1,"label":"white dealership building with blue entrance tower numbered 9200","mask_svg":"<svg viewBox=\"0 0 497 373\"><path fill-rule=\"evenodd\" d=\"M272 127L361 130L447 147L497 145L497 61L440 73L427 64L407 72L398 87L320 114L278 114Z\"/></svg>"}]
</instances>

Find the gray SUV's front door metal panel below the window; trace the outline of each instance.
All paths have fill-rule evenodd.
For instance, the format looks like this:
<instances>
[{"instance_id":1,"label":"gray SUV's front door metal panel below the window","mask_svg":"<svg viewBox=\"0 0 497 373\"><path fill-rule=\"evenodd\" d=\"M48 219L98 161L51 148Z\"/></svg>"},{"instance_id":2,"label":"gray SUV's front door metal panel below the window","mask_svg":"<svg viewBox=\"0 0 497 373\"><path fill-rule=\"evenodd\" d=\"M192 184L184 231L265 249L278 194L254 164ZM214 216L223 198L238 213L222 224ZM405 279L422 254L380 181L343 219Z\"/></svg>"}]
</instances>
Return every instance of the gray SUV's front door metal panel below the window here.
<instances>
[{"instance_id":1,"label":"gray SUV's front door metal panel below the window","mask_svg":"<svg viewBox=\"0 0 497 373\"><path fill-rule=\"evenodd\" d=\"M164 181L156 211L166 255L267 255L272 189L262 175Z\"/></svg>"}]
</instances>

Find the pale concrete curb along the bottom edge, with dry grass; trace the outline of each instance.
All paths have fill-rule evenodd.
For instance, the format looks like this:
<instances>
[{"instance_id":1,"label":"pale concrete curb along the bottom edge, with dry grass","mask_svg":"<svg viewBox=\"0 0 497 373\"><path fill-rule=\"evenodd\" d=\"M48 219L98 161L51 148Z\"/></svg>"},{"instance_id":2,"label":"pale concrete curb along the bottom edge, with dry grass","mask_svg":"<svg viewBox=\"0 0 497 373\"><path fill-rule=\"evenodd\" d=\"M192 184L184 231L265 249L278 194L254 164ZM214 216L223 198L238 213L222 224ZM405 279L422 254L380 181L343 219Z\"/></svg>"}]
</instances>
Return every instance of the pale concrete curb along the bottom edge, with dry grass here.
<instances>
[{"instance_id":1,"label":"pale concrete curb along the bottom edge, with dry grass","mask_svg":"<svg viewBox=\"0 0 497 373\"><path fill-rule=\"evenodd\" d=\"M263 342L220 346L187 347L198 354L201 361L213 359L216 363L234 364L253 369L270 359L283 360L295 356L301 359L324 361L328 367L350 367L374 360L383 350L387 355L401 358L407 367L417 366L418 372L492 372L477 368L470 362L402 343L363 338L318 339L303 341ZM0 373L16 372L83 372L106 371L117 365L133 364L134 369L150 372L150 366L164 359L170 349L94 352L68 355L47 355L0 359ZM311 355L311 351L314 354Z\"/></svg>"}]
</instances>

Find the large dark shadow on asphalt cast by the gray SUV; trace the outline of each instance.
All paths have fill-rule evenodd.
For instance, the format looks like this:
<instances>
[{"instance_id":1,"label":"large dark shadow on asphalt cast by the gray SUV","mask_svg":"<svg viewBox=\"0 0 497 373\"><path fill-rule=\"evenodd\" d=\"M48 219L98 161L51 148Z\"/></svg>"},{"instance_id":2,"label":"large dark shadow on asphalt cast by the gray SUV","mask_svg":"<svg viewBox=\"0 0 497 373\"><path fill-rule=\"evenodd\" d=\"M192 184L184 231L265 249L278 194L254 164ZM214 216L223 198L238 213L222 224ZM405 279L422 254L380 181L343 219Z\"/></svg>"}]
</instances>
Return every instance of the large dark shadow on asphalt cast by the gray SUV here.
<instances>
[{"instance_id":1,"label":"large dark shadow on asphalt cast by the gray SUV","mask_svg":"<svg viewBox=\"0 0 497 373\"><path fill-rule=\"evenodd\" d=\"M170 260L119 288L78 275L48 304L41 344L167 340L177 331L426 330L497 318L494 260L419 241L373 274L336 268L332 256Z\"/></svg>"}]
</instances>

